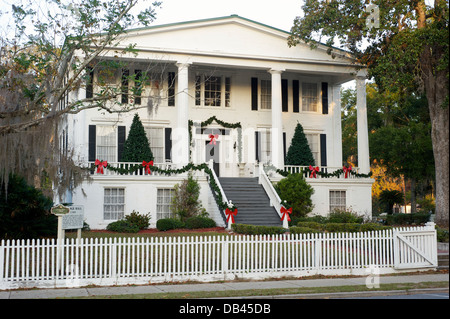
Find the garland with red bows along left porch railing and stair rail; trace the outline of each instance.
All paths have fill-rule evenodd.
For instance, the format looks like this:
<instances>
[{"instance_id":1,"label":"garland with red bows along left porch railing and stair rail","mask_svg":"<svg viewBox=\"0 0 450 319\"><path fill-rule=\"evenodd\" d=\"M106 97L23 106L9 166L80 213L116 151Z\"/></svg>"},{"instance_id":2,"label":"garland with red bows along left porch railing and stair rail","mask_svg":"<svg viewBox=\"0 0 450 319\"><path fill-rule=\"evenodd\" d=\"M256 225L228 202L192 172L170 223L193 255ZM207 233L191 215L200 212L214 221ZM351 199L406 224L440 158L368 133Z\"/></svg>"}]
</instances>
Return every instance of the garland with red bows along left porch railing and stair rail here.
<instances>
[{"instance_id":1,"label":"garland with red bows along left porch railing and stair rail","mask_svg":"<svg viewBox=\"0 0 450 319\"><path fill-rule=\"evenodd\" d=\"M157 166L153 166L153 161L151 162L143 161L142 164L124 164L124 166L126 165L128 166L128 168L109 166L106 161L99 161L99 160L96 160L94 165L97 166L97 173L99 174L103 174L103 168L107 168L108 170L111 170L118 174L131 174L144 168L146 173L148 174L151 174L151 172L157 172L164 175L183 174L191 170L192 171L203 170L206 174L208 174L209 184L211 185L212 190L216 193L217 206L219 206L219 208L222 209L223 211L225 211L225 209L227 208L236 209L235 205L227 203L223 200L222 193L220 192L220 188L214 179L213 172L206 163L198 165L189 163L186 166L183 166L182 168L178 169L162 169ZM102 170L100 170L100 166Z\"/></svg>"}]
</instances>

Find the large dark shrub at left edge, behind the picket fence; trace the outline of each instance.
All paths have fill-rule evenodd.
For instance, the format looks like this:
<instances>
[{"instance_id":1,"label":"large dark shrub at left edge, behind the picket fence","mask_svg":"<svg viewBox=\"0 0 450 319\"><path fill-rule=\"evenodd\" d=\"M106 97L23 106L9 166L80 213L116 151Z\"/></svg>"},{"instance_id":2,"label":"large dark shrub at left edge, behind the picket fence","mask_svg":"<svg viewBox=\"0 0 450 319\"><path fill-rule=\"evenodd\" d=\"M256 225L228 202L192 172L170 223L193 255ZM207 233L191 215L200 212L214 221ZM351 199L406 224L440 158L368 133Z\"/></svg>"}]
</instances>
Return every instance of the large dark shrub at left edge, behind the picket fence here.
<instances>
[{"instance_id":1,"label":"large dark shrub at left edge, behind the picket fence","mask_svg":"<svg viewBox=\"0 0 450 319\"><path fill-rule=\"evenodd\" d=\"M0 239L55 237L58 219L50 213L52 200L16 175L5 186L0 184Z\"/></svg>"}]
</instances>

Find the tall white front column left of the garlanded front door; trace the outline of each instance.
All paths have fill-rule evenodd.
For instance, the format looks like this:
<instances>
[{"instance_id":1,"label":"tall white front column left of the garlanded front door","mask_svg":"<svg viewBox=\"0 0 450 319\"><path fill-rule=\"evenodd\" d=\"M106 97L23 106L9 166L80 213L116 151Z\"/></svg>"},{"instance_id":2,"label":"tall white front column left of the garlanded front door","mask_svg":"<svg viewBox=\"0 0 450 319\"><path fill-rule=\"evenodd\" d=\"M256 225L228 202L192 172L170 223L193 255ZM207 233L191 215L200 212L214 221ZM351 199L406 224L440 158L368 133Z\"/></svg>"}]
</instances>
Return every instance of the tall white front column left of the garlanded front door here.
<instances>
[{"instance_id":1,"label":"tall white front column left of the garlanded front door","mask_svg":"<svg viewBox=\"0 0 450 319\"><path fill-rule=\"evenodd\" d=\"M189 63L177 63L177 119L172 131L172 161L178 167L189 163Z\"/></svg>"}]
</instances>

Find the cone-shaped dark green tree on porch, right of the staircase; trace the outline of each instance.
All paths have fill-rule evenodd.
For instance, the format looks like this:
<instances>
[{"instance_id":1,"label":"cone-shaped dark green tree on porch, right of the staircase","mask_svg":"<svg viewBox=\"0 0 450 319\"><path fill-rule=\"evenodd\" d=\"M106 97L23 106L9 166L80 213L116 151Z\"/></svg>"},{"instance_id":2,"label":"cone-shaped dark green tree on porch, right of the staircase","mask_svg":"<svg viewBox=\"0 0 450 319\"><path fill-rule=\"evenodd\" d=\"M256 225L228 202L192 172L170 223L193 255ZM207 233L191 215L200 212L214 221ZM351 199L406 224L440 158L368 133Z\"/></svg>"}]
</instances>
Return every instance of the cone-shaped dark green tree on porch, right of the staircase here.
<instances>
[{"instance_id":1,"label":"cone-shaped dark green tree on porch, right of the staircase","mask_svg":"<svg viewBox=\"0 0 450 319\"><path fill-rule=\"evenodd\" d=\"M295 128L291 146L286 154L285 164L301 166L315 165L314 156L309 148L308 140L300 123L297 123Z\"/></svg>"}]
</instances>

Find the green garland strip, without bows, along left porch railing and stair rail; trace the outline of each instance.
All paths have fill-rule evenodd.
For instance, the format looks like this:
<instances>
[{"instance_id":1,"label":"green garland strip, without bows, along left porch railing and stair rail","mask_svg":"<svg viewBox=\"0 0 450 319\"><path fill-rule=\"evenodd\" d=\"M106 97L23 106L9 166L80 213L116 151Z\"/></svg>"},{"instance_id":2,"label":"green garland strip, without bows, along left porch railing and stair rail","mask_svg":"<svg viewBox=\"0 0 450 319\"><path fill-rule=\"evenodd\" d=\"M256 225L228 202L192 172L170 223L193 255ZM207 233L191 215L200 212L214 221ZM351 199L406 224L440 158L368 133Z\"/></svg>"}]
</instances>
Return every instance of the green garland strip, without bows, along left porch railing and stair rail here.
<instances>
[{"instance_id":1,"label":"green garland strip, without bows, along left porch railing and stair rail","mask_svg":"<svg viewBox=\"0 0 450 319\"><path fill-rule=\"evenodd\" d=\"M128 166L128 167L125 167ZM213 189L213 191L216 193L216 201L217 201L217 206L222 209L223 211L225 211L226 208L230 208L228 207L228 203L223 201L223 197L222 197L222 193L220 192L220 188L219 186L216 184L216 181L214 179L213 176L213 172L212 170L209 168L208 164L206 163L202 163L199 165L194 165L193 163L189 163L186 166L183 166L182 168L178 168L178 169L162 169L159 168L157 166L149 166L150 171L152 172L158 172L160 174L164 174L164 175L173 175L173 174L183 174L186 173L188 171L201 171L203 170L206 174L208 174L209 176L209 184L211 185L211 188ZM107 166L106 169L111 170L113 172L116 172L118 174L121 175L127 175L127 174L131 174L131 173L135 173L136 171L140 170L140 169L145 169L145 166L142 164L122 164L122 167L112 167L112 166ZM91 168L92 170L92 168ZM236 208L236 207L233 207Z\"/></svg>"}]
</instances>

